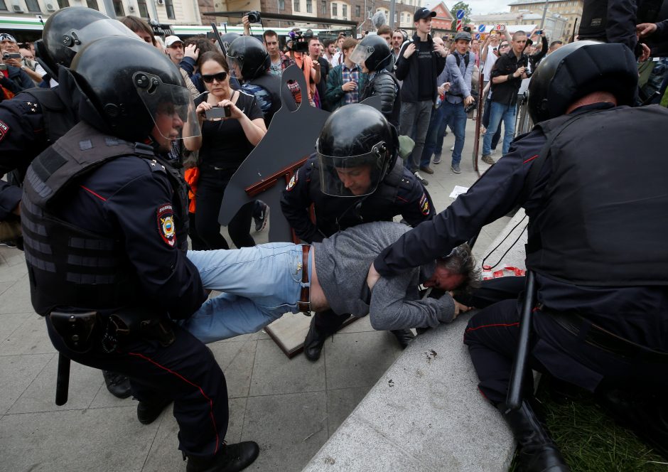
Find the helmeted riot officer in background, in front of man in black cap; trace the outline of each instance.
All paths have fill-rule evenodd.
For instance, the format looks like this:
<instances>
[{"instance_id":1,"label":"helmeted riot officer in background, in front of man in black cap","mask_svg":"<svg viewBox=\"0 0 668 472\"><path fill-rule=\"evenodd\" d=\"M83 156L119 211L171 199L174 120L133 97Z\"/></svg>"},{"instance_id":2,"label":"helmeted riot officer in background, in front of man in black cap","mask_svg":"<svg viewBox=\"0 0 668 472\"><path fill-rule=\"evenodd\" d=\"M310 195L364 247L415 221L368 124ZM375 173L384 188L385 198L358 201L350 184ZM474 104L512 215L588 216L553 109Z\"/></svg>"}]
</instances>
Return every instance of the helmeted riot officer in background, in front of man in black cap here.
<instances>
[{"instance_id":1,"label":"helmeted riot officer in background, in front of man in black cap","mask_svg":"<svg viewBox=\"0 0 668 472\"><path fill-rule=\"evenodd\" d=\"M378 35L365 36L352 50L350 60L360 64L362 72L368 74L360 102L379 95L380 111L388 122L398 128L402 100L399 98L399 81L387 70L387 66L392 63L387 41Z\"/></svg>"}]
</instances>

